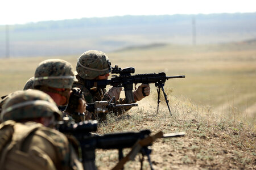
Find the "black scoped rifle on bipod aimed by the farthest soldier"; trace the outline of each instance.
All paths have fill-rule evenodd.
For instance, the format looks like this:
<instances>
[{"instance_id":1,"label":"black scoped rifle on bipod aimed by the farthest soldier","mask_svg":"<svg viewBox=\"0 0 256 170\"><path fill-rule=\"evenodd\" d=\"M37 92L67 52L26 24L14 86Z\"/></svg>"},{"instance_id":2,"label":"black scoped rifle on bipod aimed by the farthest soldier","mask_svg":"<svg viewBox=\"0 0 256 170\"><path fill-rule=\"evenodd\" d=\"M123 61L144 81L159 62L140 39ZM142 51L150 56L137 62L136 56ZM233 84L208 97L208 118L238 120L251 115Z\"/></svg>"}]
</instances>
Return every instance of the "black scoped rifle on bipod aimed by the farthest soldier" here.
<instances>
[{"instance_id":1,"label":"black scoped rifle on bipod aimed by the farthest soldier","mask_svg":"<svg viewBox=\"0 0 256 170\"><path fill-rule=\"evenodd\" d=\"M127 103L135 103L134 96L133 96L133 84L143 83L155 83L155 87L157 87L158 91L158 108L160 103L160 90L163 91L164 99L166 100L166 104L168 106L169 112L171 114L171 110L169 107L169 101L167 99L166 92L164 92L164 83L168 79L174 78L185 78L185 75L176 75L176 76L166 76L166 73L150 73L150 74L135 74L131 75L131 73L135 73L134 67L127 67L125 69L119 68L117 65L112 68L111 73L119 74L113 75L112 78L109 80L85 80L85 86L88 89L93 87L98 88L105 88L107 85L114 86L114 87L124 87L125 89L125 97ZM158 112L158 109L157 109Z\"/></svg>"}]
</instances>

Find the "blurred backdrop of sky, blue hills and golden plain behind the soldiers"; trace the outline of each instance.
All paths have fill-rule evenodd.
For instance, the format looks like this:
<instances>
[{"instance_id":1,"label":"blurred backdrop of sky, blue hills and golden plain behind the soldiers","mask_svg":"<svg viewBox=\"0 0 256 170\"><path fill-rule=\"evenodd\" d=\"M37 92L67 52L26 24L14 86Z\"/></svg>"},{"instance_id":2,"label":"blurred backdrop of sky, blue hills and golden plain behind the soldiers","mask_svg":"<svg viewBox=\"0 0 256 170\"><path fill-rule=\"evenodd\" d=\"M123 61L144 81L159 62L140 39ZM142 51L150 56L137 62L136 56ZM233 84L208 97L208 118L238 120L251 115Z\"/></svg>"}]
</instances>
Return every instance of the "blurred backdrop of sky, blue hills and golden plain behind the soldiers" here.
<instances>
[{"instance_id":1,"label":"blurred backdrop of sky, blue hills and golden plain behind the soldiers","mask_svg":"<svg viewBox=\"0 0 256 170\"><path fill-rule=\"evenodd\" d=\"M75 67L101 50L135 74L186 75L168 95L255 122L254 1L3 1L0 95L22 90L39 62ZM155 91L154 84L152 91Z\"/></svg>"}]
</instances>

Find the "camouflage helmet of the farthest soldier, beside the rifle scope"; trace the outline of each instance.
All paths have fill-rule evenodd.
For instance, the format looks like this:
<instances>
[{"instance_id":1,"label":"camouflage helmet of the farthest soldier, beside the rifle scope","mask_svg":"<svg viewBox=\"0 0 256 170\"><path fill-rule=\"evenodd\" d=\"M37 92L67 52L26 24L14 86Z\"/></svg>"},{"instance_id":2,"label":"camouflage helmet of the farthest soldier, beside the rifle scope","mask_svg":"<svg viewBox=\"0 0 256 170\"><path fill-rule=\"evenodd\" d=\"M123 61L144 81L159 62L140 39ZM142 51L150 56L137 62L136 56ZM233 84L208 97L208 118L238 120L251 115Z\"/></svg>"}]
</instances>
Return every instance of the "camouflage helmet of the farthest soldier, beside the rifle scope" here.
<instances>
[{"instance_id":1,"label":"camouflage helmet of the farthest soldier, beside the rifle scope","mask_svg":"<svg viewBox=\"0 0 256 170\"><path fill-rule=\"evenodd\" d=\"M94 79L99 75L110 72L111 63L105 53L97 50L89 50L79 57L76 71L83 79Z\"/></svg>"}]
</instances>

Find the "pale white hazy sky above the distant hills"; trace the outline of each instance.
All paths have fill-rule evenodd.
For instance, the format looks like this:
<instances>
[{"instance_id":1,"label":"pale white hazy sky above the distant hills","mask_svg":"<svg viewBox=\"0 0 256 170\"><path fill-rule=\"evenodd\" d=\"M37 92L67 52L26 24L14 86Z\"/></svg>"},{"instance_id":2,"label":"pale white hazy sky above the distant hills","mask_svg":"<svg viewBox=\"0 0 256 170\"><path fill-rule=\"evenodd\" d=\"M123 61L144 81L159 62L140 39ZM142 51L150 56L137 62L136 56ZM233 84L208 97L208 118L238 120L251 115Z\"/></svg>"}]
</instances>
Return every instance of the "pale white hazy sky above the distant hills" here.
<instances>
[{"instance_id":1,"label":"pale white hazy sky above the distant hills","mask_svg":"<svg viewBox=\"0 0 256 170\"><path fill-rule=\"evenodd\" d=\"M2 0L0 24L115 15L256 12L255 0Z\"/></svg>"}]
</instances>

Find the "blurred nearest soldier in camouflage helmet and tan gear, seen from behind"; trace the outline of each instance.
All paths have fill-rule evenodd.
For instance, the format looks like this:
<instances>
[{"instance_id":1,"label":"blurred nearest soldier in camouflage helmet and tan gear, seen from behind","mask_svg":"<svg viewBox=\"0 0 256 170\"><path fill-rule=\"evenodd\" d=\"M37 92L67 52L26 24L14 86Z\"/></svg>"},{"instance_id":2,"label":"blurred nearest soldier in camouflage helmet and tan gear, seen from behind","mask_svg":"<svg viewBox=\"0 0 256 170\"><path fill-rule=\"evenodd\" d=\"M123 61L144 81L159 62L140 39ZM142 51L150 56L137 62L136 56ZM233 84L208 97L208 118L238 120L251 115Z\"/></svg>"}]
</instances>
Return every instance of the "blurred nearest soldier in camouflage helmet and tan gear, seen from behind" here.
<instances>
[{"instance_id":1,"label":"blurred nearest soldier in camouflage helmet and tan gear, seen from behind","mask_svg":"<svg viewBox=\"0 0 256 170\"><path fill-rule=\"evenodd\" d=\"M67 137L51 128L61 115L44 92L10 96L1 114L1 169L83 169Z\"/></svg>"}]
</instances>

